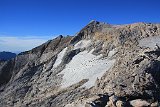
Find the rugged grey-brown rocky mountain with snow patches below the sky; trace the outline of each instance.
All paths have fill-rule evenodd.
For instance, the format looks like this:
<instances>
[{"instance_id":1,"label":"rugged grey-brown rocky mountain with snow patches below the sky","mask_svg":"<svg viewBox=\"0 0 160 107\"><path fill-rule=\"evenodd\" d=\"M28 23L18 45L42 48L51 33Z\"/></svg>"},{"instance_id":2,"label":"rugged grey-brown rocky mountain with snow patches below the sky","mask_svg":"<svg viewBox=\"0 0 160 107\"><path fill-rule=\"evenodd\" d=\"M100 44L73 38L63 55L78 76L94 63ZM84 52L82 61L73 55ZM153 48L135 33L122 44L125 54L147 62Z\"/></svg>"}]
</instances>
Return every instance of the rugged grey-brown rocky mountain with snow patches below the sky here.
<instances>
[{"instance_id":1,"label":"rugged grey-brown rocky mountain with snow patches below the sky","mask_svg":"<svg viewBox=\"0 0 160 107\"><path fill-rule=\"evenodd\" d=\"M1 107L158 107L160 24L91 21L0 62Z\"/></svg>"}]
</instances>

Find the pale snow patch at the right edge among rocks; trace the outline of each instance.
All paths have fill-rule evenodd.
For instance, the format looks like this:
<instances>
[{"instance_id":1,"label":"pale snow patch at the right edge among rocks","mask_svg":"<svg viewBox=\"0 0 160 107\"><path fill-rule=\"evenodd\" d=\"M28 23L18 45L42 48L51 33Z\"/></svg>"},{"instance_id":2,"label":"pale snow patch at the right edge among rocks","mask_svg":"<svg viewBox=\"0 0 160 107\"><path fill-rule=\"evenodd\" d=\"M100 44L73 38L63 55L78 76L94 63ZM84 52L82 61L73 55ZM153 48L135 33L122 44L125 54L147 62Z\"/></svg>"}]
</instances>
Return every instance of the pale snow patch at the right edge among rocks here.
<instances>
[{"instance_id":1,"label":"pale snow patch at the right edge among rocks","mask_svg":"<svg viewBox=\"0 0 160 107\"><path fill-rule=\"evenodd\" d=\"M149 47L151 49L154 49L156 44L160 46L160 36L148 37L139 41L139 46Z\"/></svg>"}]
</instances>

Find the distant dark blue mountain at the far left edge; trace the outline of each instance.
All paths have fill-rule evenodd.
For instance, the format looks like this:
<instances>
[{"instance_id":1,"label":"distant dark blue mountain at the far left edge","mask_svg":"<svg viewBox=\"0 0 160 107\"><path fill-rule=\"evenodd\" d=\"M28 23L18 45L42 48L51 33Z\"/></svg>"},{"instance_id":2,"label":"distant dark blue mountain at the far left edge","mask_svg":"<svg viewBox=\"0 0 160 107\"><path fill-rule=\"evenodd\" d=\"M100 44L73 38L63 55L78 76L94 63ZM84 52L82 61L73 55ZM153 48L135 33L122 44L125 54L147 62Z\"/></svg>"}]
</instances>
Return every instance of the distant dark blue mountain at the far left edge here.
<instances>
[{"instance_id":1,"label":"distant dark blue mountain at the far left edge","mask_svg":"<svg viewBox=\"0 0 160 107\"><path fill-rule=\"evenodd\" d=\"M14 58L16 56L15 53L12 53L12 52L0 52L0 60L1 61L5 61L5 60L9 60L11 58Z\"/></svg>"}]
</instances>

